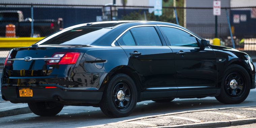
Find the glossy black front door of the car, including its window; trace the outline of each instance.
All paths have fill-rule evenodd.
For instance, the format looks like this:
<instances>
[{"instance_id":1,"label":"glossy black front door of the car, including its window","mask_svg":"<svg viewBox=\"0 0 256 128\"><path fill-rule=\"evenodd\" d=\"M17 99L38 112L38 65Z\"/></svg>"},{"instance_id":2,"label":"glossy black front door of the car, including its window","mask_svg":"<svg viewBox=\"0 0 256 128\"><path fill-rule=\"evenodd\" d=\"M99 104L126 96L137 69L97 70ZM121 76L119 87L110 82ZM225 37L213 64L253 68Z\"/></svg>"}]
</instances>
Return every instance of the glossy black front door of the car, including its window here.
<instances>
[{"instance_id":1,"label":"glossy black front door of the car, including its window","mask_svg":"<svg viewBox=\"0 0 256 128\"><path fill-rule=\"evenodd\" d=\"M177 96L215 94L217 92L216 55L210 47L200 47L201 39L174 27L160 27L174 53Z\"/></svg>"}]
</instances>

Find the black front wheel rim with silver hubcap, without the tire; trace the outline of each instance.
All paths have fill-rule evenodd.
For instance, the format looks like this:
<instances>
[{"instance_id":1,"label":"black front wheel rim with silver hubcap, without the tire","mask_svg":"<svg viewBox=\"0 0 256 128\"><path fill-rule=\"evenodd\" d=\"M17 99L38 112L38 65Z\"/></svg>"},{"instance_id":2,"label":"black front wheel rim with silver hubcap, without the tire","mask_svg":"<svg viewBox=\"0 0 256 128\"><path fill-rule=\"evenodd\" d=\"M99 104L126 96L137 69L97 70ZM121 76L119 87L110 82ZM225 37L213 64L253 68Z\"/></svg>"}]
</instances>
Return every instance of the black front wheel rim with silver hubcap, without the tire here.
<instances>
[{"instance_id":1,"label":"black front wheel rim with silver hubcap, without the tire","mask_svg":"<svg viewBox=\"0 0 256 128\"><path fill-rule=\"evenodd\" d=\"M231 98L239 98L244 93L245 87L245 79L238 72L230 73L225 79L225 90Z\"/></svg>"}]
</instances>

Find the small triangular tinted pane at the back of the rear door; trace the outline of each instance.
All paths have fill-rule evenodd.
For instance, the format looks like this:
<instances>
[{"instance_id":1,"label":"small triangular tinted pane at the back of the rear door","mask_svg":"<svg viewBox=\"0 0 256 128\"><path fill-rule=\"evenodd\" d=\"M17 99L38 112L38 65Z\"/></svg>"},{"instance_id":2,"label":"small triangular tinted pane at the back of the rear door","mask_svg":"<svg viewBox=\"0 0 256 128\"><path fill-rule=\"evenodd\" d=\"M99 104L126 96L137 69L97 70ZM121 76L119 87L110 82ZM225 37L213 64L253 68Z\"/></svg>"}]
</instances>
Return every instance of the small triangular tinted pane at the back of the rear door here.
<instances>
[{"instance_id":1,"label":"small triangular tinted pane at the back of the rear door","mask_svg":"<svg viewBox=\"0 0 256 128\"><path fill-rule=\"evenodd\" d=\"M130 31L127 31L124 35L122 35L122 36L118 39L118 41L119 41L119 43L120 43L122 46L125 46L125 45L134 46L134 45L136 45Z\"/></svg>"}]
</instances>

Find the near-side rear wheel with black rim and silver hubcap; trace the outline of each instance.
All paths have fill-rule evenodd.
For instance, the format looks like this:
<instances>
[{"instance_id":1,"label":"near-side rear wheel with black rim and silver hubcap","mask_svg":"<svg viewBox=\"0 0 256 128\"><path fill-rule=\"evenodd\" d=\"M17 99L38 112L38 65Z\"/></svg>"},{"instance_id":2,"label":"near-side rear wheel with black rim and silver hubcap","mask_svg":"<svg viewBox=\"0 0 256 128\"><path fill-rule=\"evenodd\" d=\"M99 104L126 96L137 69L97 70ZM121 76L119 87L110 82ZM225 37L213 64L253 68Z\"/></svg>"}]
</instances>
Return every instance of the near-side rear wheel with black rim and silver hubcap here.
<instances>
[{"instance_id":1,"label":"near-side rear wheel with black rim and silver hubcap","mask_svg":"<svg viewBox=\"0 0 256 128\"><path fill-rule=\"evenodd\" d=\"M100 109L108 117L127 117L136 107L137 97L137 88L131 77L119 73L107 82Z\"/></svg>"}]
</instances>

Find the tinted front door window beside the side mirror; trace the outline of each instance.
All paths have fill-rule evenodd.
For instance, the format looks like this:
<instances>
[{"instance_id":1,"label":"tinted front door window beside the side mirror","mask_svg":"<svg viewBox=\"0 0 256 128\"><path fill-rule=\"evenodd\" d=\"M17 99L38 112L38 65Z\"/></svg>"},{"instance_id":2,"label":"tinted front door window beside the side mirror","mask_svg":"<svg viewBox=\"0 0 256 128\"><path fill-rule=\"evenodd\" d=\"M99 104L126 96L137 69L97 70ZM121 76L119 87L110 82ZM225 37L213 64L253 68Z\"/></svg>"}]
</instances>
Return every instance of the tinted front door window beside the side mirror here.
<instances>
[{"instance_id":1,"label":"tinted front door window beside the side mirror","mask_svg":"<svg viewBox=\"0 0 256 128\"><path fill-rule=\"evenodd\" d=\"M161 27L171 46L199 47L196 37L177 28Z\"/></svg>"}]
</instances>

